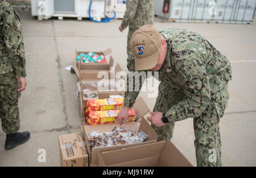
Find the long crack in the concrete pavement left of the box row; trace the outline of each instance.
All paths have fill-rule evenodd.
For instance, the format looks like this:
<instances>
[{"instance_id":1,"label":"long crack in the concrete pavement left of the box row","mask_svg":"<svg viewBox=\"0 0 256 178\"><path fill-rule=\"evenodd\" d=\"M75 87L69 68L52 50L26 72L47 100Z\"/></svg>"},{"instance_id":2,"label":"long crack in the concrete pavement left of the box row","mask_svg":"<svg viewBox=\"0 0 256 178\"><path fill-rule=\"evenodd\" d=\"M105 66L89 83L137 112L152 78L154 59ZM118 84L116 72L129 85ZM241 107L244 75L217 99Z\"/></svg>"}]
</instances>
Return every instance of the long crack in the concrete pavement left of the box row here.
<instances>
[{"instance_id":1,"label":"long crack in the concrete pavement left of the box row","mask_svg":"<svg viewBox=\"0 0 256 178\"><path fill-rule=\"evenodd\" d=\"M60 55L59 55L59 50L58 50L58 45L57 45L57 39L56 39L56 33L55 33L55 28L54 28L54 23L52 20L52 28L53 28L53 37L54 37L54 42L55 42L55 49L57 53L56 57L56 63L57 63L57 69L58 69L58 78L59 78L59 86L60 86L60 96L61 96L61 102L63 104L63 113L64 113L64 120L66 122L66 128L68 133L71 133L70 126L68 124L68 113L67 113L67 103L65 99L65 90L64 90L64 82L63 82L63 76L61 73L61 62L60 62Z\"/></svg>"}]
</instances>

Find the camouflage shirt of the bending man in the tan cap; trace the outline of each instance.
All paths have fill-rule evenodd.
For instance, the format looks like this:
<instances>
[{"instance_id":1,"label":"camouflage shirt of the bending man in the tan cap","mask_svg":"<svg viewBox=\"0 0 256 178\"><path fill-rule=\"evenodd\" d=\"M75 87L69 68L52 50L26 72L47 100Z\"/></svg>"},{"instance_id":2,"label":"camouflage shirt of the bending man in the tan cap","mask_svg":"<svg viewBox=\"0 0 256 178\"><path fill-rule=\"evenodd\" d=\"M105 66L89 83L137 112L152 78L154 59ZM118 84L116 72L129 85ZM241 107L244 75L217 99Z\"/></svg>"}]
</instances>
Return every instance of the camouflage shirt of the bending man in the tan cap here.
<instances>
[{"instance_id":1,"label":"camouflage shirt of the bending man in the tan cap","mask_svg":"<svg viewBox=\"0 0 256 178\"><path fill-rule=\"evenodd\" d=\"M166 116L171 122L196 117L207 108L210 101L214 102L211 95L226 88L229 80L232 79L230 62L212 44L195 32L174 28L160 31L160 34L166 39L167 54L159 69L159 80L173 88L180 88L185 96L166 111ZM135 71L133 54L127 59L127 68L129 71ZM127 86L129 80L131 82L127 75ZM139 87L141 90L143 82L142 80L140 83L131 82L133 89ZM127 90L124 105L131 107L138 94L138 90ZM218 111L221 108L216 109Z\"/></svg>"}]
</instances>

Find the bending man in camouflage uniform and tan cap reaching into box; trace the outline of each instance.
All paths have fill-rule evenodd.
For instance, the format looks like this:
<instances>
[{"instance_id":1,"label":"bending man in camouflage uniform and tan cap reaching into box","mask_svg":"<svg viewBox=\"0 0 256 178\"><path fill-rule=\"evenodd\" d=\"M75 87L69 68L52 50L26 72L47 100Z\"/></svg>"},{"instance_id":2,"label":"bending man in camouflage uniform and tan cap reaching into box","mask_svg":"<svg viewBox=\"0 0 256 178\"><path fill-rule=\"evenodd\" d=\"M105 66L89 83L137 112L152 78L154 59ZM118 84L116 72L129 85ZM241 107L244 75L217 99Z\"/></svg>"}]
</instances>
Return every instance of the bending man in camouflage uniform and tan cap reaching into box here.
<instances>
[{"instance_id":1,"label":"bending man in camouflage uniform and tan cap reaching into box","mask_svg":"<svg viewBox=\"0 0 256 178\"><path fill-rule=\"evenodd\" d=\"M153 26L135 31L130 41L133 54L127 61L129 71L157 71L159 94L154 112L147 117L159 141L171 139L174 123L193 118L197 166L222 166L218 122L228 104L228 82L232 70L228 59L199 34L187 29L158 32ZM154 74L154 73L153 73ZM135 78L138 73L134 74ZM118 114L125 124L128 108L134 104L144 82L131 82L127 75L124 106ZM138 77L138 76L137 76ZM136 81L135 81L136 82ZM138 85L138 86L137 86Z\"/></svg>"}]
</instances>

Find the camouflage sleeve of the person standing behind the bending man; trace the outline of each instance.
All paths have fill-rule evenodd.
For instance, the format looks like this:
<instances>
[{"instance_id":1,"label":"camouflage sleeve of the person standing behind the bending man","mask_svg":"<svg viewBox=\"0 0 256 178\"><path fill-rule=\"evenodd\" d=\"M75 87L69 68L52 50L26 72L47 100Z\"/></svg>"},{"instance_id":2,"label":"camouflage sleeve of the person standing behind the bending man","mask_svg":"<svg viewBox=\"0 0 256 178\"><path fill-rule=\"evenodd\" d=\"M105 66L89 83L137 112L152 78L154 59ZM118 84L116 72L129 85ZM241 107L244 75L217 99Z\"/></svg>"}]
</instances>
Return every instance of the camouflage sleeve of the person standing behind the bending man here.
<instances>
[{"instance_id":1,"label":"camouflage sleeve of the person standing behind the bending man","mask_svg":"<svg viewBox=\"0 0 256 178\"><path fill-rule=\"evenodd\" d=\"M138 4L139 4L139 0L126 1L126 11L125 11L125 15L123 15L123 20L121 24L121 27L123 29L129 26L129 24L133 21L137 11Z\"/></svg>"}]
</instances>

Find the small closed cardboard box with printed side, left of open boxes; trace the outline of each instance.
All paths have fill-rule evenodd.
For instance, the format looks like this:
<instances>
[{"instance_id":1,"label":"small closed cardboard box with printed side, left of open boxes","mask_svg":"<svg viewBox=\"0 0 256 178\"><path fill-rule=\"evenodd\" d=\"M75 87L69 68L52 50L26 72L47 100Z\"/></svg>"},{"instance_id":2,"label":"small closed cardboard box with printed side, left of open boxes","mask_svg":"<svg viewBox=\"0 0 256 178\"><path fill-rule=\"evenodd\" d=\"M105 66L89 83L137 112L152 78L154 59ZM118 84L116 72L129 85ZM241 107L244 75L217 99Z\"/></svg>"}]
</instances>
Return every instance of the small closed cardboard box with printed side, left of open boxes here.
<instances>
[{"instance_id":1,"label":"small closed cardboard box with printed side, left of open boxes","mask_svg":"<svg viewBox=\"0 0 256 178\"><path fill-rule=\"evenodd\" d=\"M60 165L63 167L88 167L88 154L80 133L59 136Z\"/></svg>"}]
</instances>

